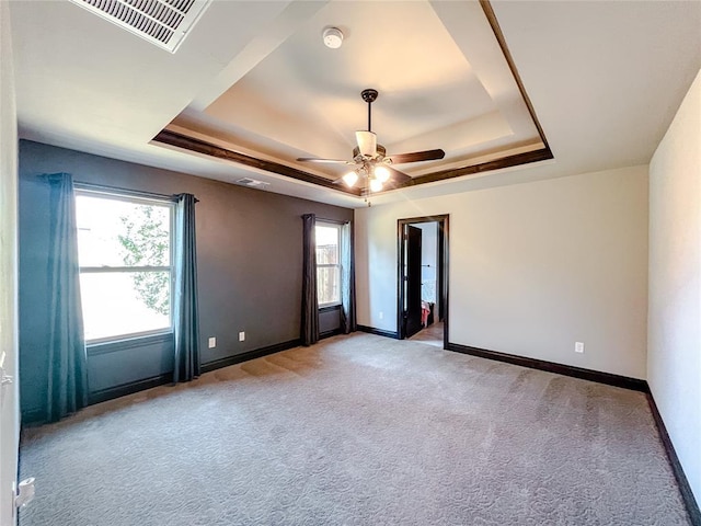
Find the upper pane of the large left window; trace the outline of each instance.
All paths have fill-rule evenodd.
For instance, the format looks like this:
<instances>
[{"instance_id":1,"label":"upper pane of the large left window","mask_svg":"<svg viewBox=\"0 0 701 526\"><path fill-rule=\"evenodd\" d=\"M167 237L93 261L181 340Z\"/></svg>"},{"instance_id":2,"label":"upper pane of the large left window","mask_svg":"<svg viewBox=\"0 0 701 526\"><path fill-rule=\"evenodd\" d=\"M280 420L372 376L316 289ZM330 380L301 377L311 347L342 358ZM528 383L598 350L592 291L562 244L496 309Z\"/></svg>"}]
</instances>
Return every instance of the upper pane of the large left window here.
<instances>
[{"instance_id":1,"label":"upper pane of the large left window","mask_svg":"<svg viewBox=\"0 0 701 526\"><path fill-rule=\"evenodd\" d=\"M76 197L80 266L169 266L171 207Z\"/></svg>"}]
</instances>

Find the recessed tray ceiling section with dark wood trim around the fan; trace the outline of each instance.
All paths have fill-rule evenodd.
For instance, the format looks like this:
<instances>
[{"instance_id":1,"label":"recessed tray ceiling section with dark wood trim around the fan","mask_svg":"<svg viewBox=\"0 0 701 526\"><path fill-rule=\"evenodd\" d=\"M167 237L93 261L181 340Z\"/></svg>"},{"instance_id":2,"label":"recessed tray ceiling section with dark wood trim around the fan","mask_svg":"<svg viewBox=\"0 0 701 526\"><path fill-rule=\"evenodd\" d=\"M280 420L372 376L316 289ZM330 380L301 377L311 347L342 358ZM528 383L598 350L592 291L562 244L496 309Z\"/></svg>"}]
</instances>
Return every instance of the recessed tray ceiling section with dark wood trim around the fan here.
<instances>
[{"instance_id":1,"label":"recessed tray ceiling section with dark wood trim around the fan","mask_svg":"<svg viewBox=\"0 0 701 526\"><path fill-rule=\"evenodd\" d=\"M329 26L343 31L341 48L324 46ZM268 45L252 46L156 142L327 186L348 167L296 159L352 159L354 132L367 129L360 92L374 88L372 130L388 156L446 151L397 165L405 185L552 157L486 3L329 2L257 41Z\"/></svg>"}]
</instances>

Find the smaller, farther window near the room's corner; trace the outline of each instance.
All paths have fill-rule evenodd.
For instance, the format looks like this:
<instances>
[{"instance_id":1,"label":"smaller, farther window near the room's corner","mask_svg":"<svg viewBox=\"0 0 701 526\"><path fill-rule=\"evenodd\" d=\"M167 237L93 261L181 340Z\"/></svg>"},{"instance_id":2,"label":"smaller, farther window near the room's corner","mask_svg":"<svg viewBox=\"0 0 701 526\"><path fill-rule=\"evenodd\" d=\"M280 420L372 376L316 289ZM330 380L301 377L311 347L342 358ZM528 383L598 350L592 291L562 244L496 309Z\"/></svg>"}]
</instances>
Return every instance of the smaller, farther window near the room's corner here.
<instances>
[{"instance_id":1,"label":"smaller, farther window near the room's corner","mask_svg":"<svg viewBox=\"0 0 701 526\"><path fill-rule=\"evenodd\" d=\"M317 221L317 298L319 307L341 304L341 226Z\"/></svg>"}]
</instances>

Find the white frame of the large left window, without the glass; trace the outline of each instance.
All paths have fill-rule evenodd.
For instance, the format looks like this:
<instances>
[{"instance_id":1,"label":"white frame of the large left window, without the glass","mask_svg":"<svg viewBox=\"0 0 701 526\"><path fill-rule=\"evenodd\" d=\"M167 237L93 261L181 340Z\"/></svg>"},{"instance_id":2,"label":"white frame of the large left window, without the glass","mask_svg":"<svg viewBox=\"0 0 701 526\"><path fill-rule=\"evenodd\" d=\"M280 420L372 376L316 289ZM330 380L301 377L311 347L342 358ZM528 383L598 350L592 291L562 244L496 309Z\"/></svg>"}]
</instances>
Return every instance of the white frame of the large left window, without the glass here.
<instances>
[{"instance_id":1,"label":"white frame of the large left window, without the glass","mask_svg":"<svg viewBox=\"0 0 701 526\"><path fill-rule=\"evenodd\" d=\"M153 329L150 331L138 331L138 332L128 332L122 334L115 334L111 336L103 338L93 338L88 339L84 336L83 329L83 338L85 339L85 345L101 345L108 343L123 342L128 340L138 340L143 338L166 335L173 333L173 291L175 285L175 267L174 267L174 255L175 255L175 201L170 196L156 196L153 194L134 192L134 191L123 191L117 188L101 188L93 187L91 185L79 185L76 184L74 187L76 197L79 196L88 196L88 197L97 197L103 199L111 201L122 201L125 203L131 203L137 205L157 205L163 206L169 210L169 258L168 261L170 265L143 265L143 266L78 266L79 276L82 274L124 274L124 273L133 273L133 272L168 272L170 275L170 297L169 297L169 327ZM81 290L82 295L82 290Z\"/></svg>"}]
</instances>

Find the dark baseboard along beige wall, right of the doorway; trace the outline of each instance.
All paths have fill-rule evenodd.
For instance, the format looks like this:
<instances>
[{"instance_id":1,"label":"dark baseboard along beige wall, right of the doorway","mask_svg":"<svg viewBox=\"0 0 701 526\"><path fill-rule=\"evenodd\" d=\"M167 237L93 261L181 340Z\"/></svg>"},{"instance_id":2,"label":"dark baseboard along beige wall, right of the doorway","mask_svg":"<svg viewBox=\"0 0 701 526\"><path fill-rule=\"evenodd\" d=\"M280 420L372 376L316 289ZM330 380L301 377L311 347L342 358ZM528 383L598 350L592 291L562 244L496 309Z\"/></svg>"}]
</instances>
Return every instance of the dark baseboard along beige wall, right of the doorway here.
<instances>
[{"instance_id":1,"label":"dark baseboard along beige wall, right of the doorway","mask_svg":"<svg viewBox=\"0 0 701 526\"><path fill-rule=\"evenodd\" d=\"M622 387L624 389L631 389L633 391L650 392L650 387L647 386L647 382L645 380L630 378L628 376L584 369L582 367L556 364L554 362L547 362L544 359L527 358L525 356L516 356L515 354L498 353L496 351L487 351L485 348L460 345L458 343L448 343L448 346L446 348L448 351L455 351L456 353L469 354L471 356L479 356L481 358L487 359L496 359L498 362L520 365L521 367L529 367L531 369L547 370L549 373L556 373L563 376L572 376L574 378L582 378L584 380L598 381L599 384Z\"/></svg>"}]
</instances>

